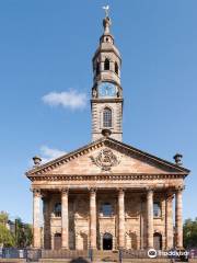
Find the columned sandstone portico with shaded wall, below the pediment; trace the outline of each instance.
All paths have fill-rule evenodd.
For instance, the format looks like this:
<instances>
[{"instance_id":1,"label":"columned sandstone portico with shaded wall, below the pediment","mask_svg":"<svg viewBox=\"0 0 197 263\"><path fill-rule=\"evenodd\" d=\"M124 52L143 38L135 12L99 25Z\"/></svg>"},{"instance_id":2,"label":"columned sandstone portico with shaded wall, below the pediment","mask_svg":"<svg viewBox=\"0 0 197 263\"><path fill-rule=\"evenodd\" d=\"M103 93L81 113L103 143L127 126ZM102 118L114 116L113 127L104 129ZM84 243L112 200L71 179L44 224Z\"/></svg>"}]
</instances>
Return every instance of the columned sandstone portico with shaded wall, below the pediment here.
<instances>
[{"instance_id":1,"label":"columned sandstone portico with shaded wall, below the pediment","mask_svg":"<svg viewBox=\"0 0 197 263\"><path fill-rule=\"evenodd\" d=\"M44 222L45 249L99 250L148 249L159 245L158 235L161 235L161 248L172 249L183 247L179 235L182 224L182 190L177 187L57 187L34 188L34 247L42 247L39 218L42 217L40 201L49 196L45 208L48 209ZM55 197L56 196L56 197ZM109 198L107 198L109 196ZM79 198L89 203L79 204ZM175 244L173 243L173 208L175 198ZM135 210L129 207L129 201L136 201ZM61 213L55 215L55 203L60 202ZM160 215L153 211L154 204L161 204ZM54 205L53 205L54 204ZM107 205L105 205L107 204ZM82 207L81 207L82 205ZM84 205L84 207L83 207ZM73 210L74 207L74 210ZM69 208L71 210L69 210ZM105 209L104 211L102 209ZM46 211L45 211L46 213ZM73 216L73 218L72 218ZM142 220L141 220L142 219ZM49 221L49 225L47 222ZM69 226L70 225L70 226ZM143 231L141 232L141 229ZM58 235L57 235L58 233ZM158 233L158 235L155 235ZM57 241L59 238L60 241ZM59 247L57 248L57 242Z\"/></svg>"}]
</instances>

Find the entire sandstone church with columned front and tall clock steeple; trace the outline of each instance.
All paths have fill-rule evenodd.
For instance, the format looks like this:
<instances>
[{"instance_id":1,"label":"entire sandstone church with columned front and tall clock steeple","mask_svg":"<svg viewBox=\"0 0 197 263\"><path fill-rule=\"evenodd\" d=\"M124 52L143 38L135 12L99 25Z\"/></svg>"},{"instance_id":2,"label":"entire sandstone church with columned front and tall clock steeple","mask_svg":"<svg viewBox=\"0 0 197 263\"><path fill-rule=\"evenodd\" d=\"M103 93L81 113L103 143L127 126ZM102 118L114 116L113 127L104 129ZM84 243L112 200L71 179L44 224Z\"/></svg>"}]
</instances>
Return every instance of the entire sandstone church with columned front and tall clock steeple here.
<instances>
[{"instance_id":1,"label":"entire sandstone church with columned front and tall clock steeple","mask_svg":"<svg viewBox=\"0 0 197 263\"><path fill-rule=\"evenodd\" d=\"M92 141L47 163L34 157L26 172L34 248L183 248L182 194L189 170L182 155L170 162L123 142L121 56L111 23L106 15L92 60Z\"/></svg>"}]
</instances>

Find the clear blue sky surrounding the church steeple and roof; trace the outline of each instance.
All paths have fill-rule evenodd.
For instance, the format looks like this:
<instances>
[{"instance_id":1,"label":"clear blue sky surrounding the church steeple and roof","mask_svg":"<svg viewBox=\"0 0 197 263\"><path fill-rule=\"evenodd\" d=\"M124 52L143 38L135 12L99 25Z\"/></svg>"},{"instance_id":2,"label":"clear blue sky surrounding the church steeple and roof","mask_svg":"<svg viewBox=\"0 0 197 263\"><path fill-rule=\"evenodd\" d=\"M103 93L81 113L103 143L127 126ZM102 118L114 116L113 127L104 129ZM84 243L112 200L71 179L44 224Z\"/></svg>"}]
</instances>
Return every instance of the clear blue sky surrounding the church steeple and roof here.
<instances>
[{"instance_id":1,"label":"clear blue sky surrounding the church steeple and roof","mask_svg":"<svg viewBox=\"0 0 197 263\"><path fill-rule=\"evenodd\" d=\"M24 172L33 156L91 140L91 59L106 3L123 56L124 142L170 161L182 152L192 170L184 218L197 216L197 1L2 0L0 210L12 218L32 220ZM82 105L51 106L51 92Z\"/></svg>"}]
</instances>

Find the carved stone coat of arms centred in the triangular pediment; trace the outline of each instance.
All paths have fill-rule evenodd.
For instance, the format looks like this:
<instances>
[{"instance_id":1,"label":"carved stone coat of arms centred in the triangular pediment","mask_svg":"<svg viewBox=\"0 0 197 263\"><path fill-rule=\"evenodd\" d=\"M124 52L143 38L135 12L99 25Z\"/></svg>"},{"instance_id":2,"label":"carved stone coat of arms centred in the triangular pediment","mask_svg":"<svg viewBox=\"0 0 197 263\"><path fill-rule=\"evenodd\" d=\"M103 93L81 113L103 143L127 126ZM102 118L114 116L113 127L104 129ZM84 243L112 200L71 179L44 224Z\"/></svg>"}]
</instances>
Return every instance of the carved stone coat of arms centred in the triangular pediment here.
<instances>
[{"instance_id":1,"label":"carved stone coat of arms centred in the triangular pediment","mask_svg":"<svg viewBox=\"0 0 197 263\"><path fill-rule=\"evenodd\" d=\"M96 157L90 157L92 162L100 167L102 171L111 171L112 167L119 163L119 159L113 153L111 149L103 149Z\"/></svg>"}]
</instances>

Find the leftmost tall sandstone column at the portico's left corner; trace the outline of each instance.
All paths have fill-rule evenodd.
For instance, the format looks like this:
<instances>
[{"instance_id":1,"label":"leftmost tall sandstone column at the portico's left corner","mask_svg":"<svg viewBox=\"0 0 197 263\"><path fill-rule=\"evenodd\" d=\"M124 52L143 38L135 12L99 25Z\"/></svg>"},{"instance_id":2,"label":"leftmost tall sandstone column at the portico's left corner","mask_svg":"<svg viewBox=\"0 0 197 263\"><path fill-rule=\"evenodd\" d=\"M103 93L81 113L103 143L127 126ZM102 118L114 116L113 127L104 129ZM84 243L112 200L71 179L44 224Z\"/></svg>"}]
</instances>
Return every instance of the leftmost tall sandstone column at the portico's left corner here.
<instances>
[{"instance_id":1,"label":"leftmost tall sandstone column at the portico's left corner","mask_svg":"<svg viewBox=\"0 0 197 263\"><path fill-rule=\"evenodd\" d=\"M33 245L34 248L40 248L40 191L33 190Z\"/></svg>"}]
</instances>

